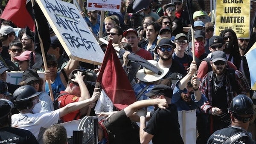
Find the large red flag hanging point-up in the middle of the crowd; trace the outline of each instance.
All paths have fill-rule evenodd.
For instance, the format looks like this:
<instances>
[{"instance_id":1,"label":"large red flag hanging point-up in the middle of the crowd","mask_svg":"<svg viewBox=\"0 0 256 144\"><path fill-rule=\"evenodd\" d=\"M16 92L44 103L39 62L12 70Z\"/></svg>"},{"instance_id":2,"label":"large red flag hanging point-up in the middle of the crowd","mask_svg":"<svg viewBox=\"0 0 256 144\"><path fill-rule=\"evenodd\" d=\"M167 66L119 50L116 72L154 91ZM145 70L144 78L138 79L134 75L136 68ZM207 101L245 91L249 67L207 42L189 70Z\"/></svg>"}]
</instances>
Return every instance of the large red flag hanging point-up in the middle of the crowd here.
<instances>
[{"instance_id":1,"label":"large red flag hanging point-up in the middle of the crowd","mask_svg":"<svg viewBox=\"0 0 256 144\"><path fill-rule=\"evenodd\" d=\"M109 42L97 81L113 102L121 110L136 101L134 90L125 74L116 52Z\"/></svg>"}]
</instances>

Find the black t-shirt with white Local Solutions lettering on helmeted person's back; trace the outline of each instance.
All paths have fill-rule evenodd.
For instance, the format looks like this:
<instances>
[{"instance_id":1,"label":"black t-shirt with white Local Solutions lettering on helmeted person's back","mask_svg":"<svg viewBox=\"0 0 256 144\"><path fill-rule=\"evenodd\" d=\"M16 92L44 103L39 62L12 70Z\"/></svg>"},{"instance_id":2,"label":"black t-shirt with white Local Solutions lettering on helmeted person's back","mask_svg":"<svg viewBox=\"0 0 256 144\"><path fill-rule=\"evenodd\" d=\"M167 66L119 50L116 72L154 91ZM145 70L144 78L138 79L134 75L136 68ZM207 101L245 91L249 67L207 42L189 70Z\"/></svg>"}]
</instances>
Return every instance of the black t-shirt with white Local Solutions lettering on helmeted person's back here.
<instances>
[{"instance_id":1,"label":"black t-shirt with white Local Solutions lettering on helmeted person's back","mask_svg":"<svg viewBox=\"0 0 256 144\"><path fill-rule=\"evenodd\" d=\"M217 130L209 137L207 144L222 144L224 141L230 138L230 136L242 131L243 130L234 127L226 127L224 129ZM242 137L233 144L256 144L256 142L249 137Z\"/></svg>"}]
</instances>

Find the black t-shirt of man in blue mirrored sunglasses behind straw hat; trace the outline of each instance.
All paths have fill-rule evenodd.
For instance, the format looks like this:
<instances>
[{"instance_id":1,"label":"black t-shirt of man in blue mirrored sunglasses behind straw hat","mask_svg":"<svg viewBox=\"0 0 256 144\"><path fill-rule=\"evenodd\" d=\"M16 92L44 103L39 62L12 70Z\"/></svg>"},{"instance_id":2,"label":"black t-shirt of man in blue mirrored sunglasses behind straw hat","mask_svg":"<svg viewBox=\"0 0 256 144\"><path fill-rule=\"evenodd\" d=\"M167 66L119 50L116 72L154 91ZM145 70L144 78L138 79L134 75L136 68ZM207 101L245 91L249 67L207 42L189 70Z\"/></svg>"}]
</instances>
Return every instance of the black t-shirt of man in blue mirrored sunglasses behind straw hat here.
<instances>
[{"instance_id":1,"label":"black t-shirt of man in blue mirrored sunglasses behind straw hat","mask_svg":"<svg viewBox=\"0 0 256 144\"><path fill-rule=\"evenodd\" d=\"M173 72L178 72L182 75L186 75L186 70L184 69L184 66L174 59L172 59L172 66L170 67L169 72L167 72L163 79L169 78L169 76L172 75Z\"/></svg>"}]
</instances>

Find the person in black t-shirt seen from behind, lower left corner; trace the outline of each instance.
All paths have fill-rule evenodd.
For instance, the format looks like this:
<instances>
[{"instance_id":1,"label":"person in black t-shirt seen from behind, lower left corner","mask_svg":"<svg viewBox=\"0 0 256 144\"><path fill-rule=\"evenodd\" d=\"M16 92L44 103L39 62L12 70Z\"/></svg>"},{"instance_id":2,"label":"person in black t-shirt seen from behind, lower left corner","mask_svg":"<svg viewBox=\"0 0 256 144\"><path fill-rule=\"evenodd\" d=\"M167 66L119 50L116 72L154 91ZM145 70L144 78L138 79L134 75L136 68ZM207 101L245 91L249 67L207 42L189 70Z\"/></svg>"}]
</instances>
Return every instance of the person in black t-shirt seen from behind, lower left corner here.
<instances>
[{"instance_id":1,"label":"person in black t-shirt seen from behind, lower left corner","mask_svg":"<svg viewBox=\"0 0 256 144\"><path fill-rule=\"evenodd\" d=\"M1 144L38 144L35 136L28 130L11 127L11 101L0 99L0 141Z\"/></svg>"}]
</instances>

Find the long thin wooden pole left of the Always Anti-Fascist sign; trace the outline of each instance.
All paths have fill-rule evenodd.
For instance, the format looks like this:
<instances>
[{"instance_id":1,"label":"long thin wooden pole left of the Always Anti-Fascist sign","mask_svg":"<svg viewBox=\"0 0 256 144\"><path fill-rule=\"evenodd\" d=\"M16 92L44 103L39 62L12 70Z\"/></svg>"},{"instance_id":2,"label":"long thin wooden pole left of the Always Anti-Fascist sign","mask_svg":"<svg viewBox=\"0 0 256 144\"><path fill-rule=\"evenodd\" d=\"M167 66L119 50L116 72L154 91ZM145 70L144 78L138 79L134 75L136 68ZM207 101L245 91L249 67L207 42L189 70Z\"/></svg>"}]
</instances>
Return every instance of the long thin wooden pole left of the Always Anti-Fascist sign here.
<instances>
[{"instance_id":1,"label":"long thin wooden pole left of the Always Anti-Fascist sign","mask_svg":"<svg viewBox=\"0 0 256 144\"><path fill-rule=\"evenodd\" d=\"M33 6L35 5L35 0L31 0L31 3L32 3L32 8L33 8ZM36 19L35 19L35 25L36 25L36 30L38 31L38 22L37 22ZM38 38L40 40L40 47L41 47L42 58L43 58L43 62L44 62L44 69L47 71L48 67L47 67L47 60L46 60L45 53L44 53L44 45L43 45L43 41L41 39L41 36L39 34L39 31L38 31ZM52 101L54 101L53 93L52 93L51 81L47 80L47 82L48 82L48 86L49 86L50 97L51 97Z\"/></svg>"}]
</instances>

